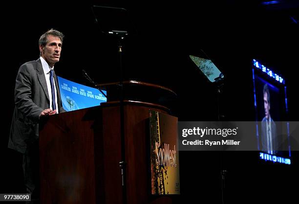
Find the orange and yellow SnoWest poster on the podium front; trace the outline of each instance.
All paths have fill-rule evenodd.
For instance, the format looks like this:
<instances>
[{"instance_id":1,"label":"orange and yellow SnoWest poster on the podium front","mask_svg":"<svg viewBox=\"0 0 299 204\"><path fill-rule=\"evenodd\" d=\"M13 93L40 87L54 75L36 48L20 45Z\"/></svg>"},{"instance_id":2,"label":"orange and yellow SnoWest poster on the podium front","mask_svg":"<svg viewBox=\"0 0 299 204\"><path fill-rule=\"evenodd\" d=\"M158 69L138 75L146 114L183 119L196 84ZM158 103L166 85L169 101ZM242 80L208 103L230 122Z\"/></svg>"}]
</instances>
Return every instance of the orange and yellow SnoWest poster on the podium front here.
<instances>
[{"instance_id":1,"label":"orange and yellow SnoWest poster on the podium front","mask_svg":"<svg viewBox=\"0 0 299 204\"><path fill-rule=\"evenodd\" d=\"M180 194L177 117L149 110L152 195Z\"/></svg>"}]
</instances>

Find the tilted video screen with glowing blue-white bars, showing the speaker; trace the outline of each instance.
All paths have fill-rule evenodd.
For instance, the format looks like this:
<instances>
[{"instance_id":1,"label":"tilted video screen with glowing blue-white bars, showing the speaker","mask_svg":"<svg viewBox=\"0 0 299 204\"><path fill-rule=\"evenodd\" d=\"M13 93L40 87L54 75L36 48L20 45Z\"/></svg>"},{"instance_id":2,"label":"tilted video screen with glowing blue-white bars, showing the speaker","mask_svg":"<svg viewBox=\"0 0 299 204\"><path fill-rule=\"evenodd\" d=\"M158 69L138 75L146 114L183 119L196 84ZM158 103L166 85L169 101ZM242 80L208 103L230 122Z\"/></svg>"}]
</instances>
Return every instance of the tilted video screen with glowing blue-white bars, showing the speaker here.
<instances>
[{"instance_id":1,"label":"tilted video screen with glowing blue-white bars, showing the speaker","mask_svg":"<svg viewBox=\"0 0 299 204\"><path fill-rule=\"evenodd\" d=\"M291 152L285 81L256 60L253 63L256 137L260 159L289 163Z\"/></svg>"}]
</instances>

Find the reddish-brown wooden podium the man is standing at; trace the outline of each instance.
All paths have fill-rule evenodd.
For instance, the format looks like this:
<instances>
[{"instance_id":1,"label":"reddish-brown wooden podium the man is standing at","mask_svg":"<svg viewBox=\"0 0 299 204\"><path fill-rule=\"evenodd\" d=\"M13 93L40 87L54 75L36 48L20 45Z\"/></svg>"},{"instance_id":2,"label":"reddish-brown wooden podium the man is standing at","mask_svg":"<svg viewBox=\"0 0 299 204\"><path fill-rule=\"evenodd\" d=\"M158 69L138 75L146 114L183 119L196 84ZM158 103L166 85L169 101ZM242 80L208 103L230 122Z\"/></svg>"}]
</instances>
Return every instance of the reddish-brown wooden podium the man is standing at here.
<instances>
[{"instance_id":1,"label":"reddish-brown wooden podium the man is standing at","mask_svg":"<svg viewBox=\"0 0 299 204\"><path fill-rule=\"evenodd\" d=\"M154 92L169 92L161 86L139 83L137 86ZM108 101L50 115L40 124L41 204L124 203L119 105L117 100ZM150 195L149 109L169 111L158 103L124 98L127 203L171 204L171 196Z\"/></svg>"}]
</instances>

